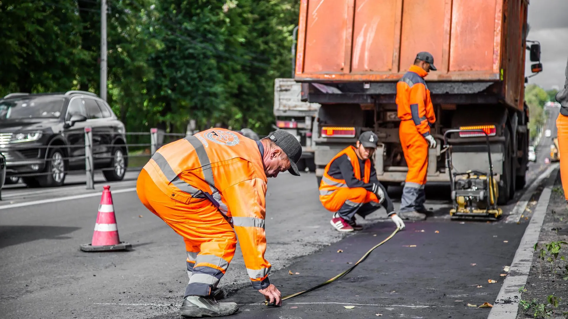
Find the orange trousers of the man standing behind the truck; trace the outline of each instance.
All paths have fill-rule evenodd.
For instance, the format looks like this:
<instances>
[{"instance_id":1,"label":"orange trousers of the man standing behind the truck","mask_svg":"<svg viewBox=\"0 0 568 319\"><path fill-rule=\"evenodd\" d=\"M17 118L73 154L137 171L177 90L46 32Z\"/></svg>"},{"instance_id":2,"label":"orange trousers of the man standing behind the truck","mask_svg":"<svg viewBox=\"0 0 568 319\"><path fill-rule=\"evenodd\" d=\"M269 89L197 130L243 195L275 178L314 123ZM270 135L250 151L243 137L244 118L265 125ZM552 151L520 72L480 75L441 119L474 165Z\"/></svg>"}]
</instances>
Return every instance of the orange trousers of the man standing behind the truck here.
<instances>
[{"instance_id":1,"label":"orange trousers of the man standing behind the truck","mask_svg":"<svg viewBox=\"0 0 568 319\"><path fill-rule=\"evenodd\" d=\"M398 132L408 166L399 210L421 211L426 199L424 185L428 174L428 142L418 133L412 120L401 121Z\"/></svg>"}]
</instances>

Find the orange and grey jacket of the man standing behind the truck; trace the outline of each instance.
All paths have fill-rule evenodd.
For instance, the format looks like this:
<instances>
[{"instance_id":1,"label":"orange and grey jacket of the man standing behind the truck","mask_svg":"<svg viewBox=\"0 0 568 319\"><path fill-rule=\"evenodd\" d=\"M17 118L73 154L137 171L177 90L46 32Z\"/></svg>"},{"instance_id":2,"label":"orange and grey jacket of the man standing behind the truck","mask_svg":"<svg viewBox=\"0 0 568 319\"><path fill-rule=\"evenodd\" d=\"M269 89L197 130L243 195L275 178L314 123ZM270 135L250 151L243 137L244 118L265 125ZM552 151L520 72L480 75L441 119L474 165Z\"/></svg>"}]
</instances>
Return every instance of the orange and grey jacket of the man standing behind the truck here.
<instances>
[{"instance_id":1,"label":"orange and grey jacket of the man standing behind the truck","mask_svg":"<svg viewBox=\"0 0 568 319\"><path fill-rule=\"evenodd\" d=\"M411 65L408 72L396 83L396 105L398 118L412 120L422 136L430 135L430 125L436 121L430 90L424 77L428 73L417 65Z\"/></svg>"}]
</instances>

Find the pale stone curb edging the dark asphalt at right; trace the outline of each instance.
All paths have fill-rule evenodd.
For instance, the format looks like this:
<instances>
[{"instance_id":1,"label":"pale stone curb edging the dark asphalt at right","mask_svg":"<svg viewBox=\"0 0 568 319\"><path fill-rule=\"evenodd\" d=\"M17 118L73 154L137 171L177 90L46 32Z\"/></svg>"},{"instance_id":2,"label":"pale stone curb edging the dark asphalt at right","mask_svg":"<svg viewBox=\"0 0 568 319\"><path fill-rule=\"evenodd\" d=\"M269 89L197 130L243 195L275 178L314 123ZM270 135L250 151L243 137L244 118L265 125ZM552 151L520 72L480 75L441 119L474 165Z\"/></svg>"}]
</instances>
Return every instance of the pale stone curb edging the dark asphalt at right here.
<instances>
[{"instance_id":1,"label":"pale stone curb edging the dark asphalt at right","mask_svg":"<svg viewBox=\"0 0 568 319\"><path fill-rule=\"evenodd\" d=\"M531 221L525 229L519 248L517 248L515 257L511 262L509 274L503 281L503 286L487 319L515 319L517 317L519 301L521 300L519 288L527 284L533 260L533 245L538 242L546 208L548 208L550 195L552 195L552 187L558 173L559 168L557 167L546 181L546 186L534 208Z\"/></svg>"}]
</instances>

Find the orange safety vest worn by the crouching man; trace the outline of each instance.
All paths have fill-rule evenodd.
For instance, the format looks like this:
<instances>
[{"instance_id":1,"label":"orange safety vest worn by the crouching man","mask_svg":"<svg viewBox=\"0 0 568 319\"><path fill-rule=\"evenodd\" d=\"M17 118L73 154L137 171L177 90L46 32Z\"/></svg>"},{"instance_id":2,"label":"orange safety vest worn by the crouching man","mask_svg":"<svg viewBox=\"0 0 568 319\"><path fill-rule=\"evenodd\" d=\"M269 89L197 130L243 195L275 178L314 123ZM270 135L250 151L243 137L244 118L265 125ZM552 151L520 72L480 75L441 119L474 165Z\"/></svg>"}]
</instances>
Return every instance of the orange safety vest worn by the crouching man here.
<instances>
[{"instance_id":1,"label":"orange safety vest worn by the crouching man","mask_svg":"<svg viewBox=\"0 0 568 319\"><path fill-rule=\"evenodd\" d=\"M365 173L364 173L365 175L363 179L361 179L361 167L359 166L359 158L357 157L357 153L355 153L355 147L353 145L349 145L347 148L337 153L337 155L333 157L331 161L329 161L329 163L327 163L327 165L325 166L319 188L320 200L325 201L327 196L333 194L333 192L336 191L337 188L339 187L348 187L347 184L345 183L345 179L336 179L328 174L331 163L333 163L335 159L343 156L343 154L346 154L347 157L349 158L349 161L353 166L353 173L355 174L355 178L365 183L369 183L369 178L371 177L371 160L368 158L366 159Z\"/></svg>"}]
</instances>

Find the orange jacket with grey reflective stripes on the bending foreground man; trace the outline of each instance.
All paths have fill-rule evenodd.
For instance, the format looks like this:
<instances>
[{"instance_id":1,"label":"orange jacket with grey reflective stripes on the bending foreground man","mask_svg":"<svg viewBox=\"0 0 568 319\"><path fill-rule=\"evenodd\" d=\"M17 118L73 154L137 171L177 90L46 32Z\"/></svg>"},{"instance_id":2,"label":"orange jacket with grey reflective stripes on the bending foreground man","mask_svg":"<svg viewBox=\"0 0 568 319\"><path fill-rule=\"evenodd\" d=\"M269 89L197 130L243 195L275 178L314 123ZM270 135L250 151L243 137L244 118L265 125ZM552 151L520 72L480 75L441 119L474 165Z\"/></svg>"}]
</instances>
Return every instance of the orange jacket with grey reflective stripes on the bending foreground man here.
<instances>
[{"instance_id":1,"label":"orange jacket with grey reflective stripes on the bending foreground man","mask_svg":"<svg viewBox=\"0 0 568 319\"><path fill-rule=\"evenodd\" d=\"M250 280L270 271L266 250L266 174L256 141L212 128L162 146L144 166L171 199L208 198L231 218Z\"/></svg>"}]
</instances>

